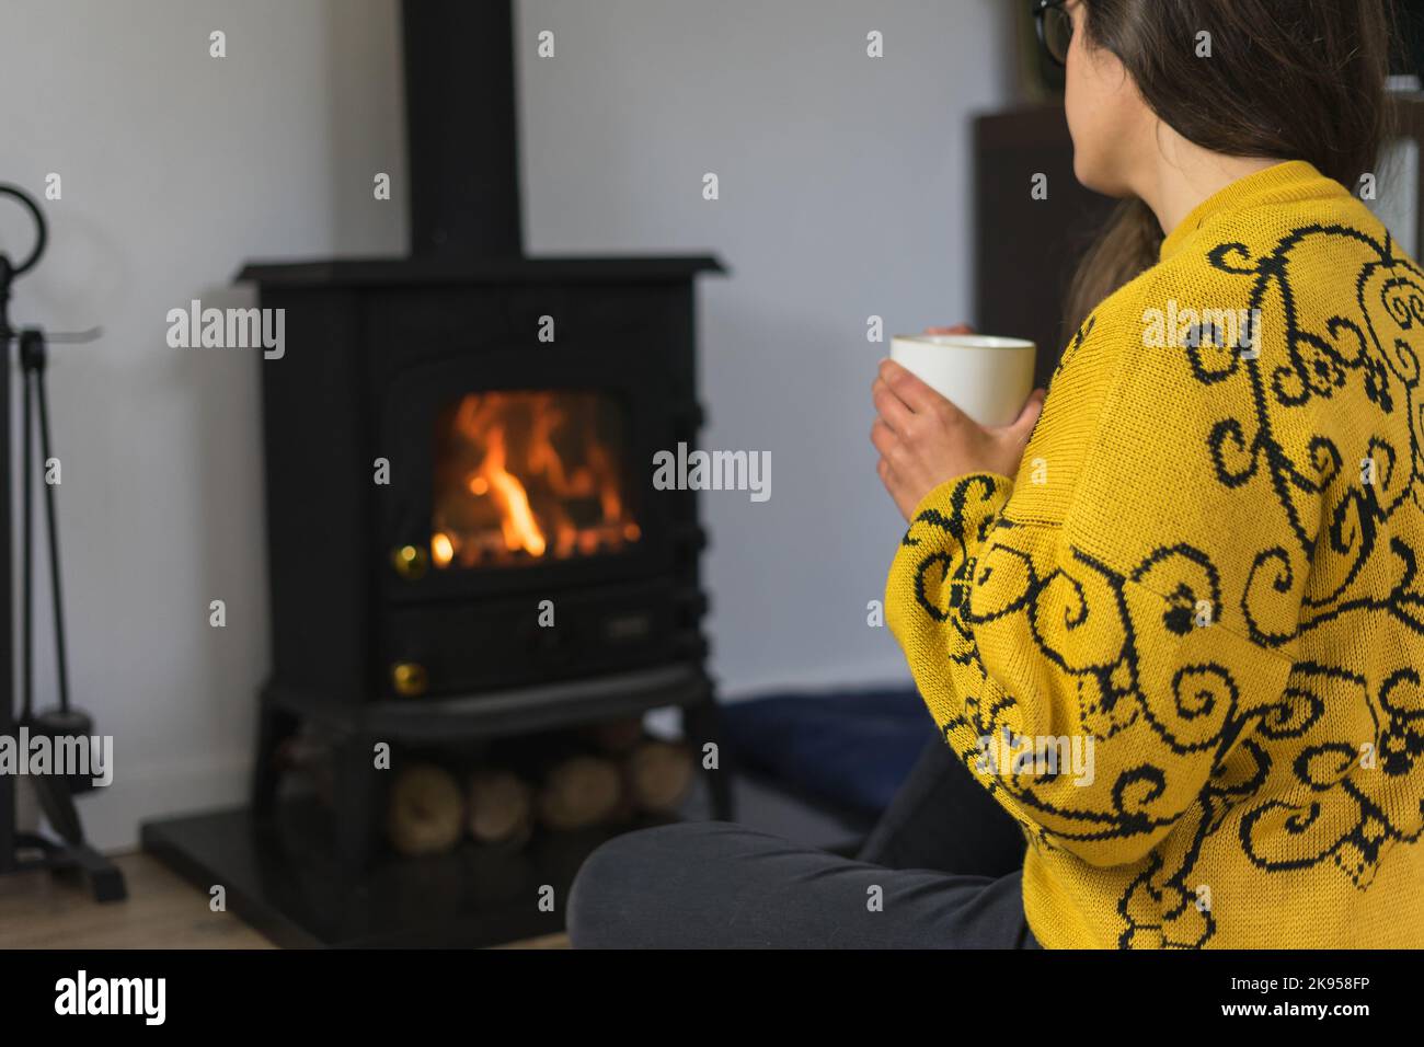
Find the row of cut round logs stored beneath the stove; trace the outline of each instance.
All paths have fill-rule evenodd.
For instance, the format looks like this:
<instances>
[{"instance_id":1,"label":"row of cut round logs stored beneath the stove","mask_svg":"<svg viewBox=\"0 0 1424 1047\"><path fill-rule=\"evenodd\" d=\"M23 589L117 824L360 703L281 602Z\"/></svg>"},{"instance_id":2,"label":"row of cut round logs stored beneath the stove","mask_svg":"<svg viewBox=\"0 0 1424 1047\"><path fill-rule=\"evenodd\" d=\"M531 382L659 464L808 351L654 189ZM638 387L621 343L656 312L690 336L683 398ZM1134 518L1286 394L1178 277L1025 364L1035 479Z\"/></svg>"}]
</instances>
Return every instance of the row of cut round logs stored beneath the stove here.
<instances>
[{"instance_id":1,"label":"row of cut round logs stored beneath the stove","mask_svg":"<svg viewBox=\"0 0 1424 1047\"><path fill-rule=\"evenodd\" d=\"M288 771L330 803L326 746L285 746ZM384 836L404 856L440 855L464 840L523 848L538 830L674 819L692 786L693 754L654 738L641 719L503 739L473 752L392 754Z\"/></svg>"}]
</instances>

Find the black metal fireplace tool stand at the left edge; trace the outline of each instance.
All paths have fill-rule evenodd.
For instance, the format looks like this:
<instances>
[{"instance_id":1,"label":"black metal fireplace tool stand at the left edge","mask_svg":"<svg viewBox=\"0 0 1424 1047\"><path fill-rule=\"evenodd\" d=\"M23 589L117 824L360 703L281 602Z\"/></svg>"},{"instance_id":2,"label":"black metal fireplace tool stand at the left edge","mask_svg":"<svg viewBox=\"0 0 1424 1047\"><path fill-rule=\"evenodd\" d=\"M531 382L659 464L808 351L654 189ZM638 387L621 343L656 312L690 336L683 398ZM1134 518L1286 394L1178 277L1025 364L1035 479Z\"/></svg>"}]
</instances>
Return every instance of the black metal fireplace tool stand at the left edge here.
<instances>
[{"instance_id":1,"label":"black metal fireplace tool stand at the left edge","mask_svg":"<svg viewBox=\"0 0 1424 1047\"><path fill-rule=\"evenodd\" d=\"M21 434L21 671L20 712L14 711L14 578L11 571L11 491L9 486L0 493L0 736L11 739L19 761L28 758L28 745L21 744L20 731L28 738L44 736L57 745L63 739L78 738L80 746L88 746L94 722L88 714L70 705L68 667L64 647L64 604L60 588L60 547L56 519L54 486L44 483L44 519L48 546L50 593L54 607L56 668L58 677L60 705L56 709L36 712L34 709L34 434L38 422L40 462L47 463L50 454L48 400L44 392L44 370L48 342L87 342L97 332L80 335L56 335L47 338L38 328L16 329L10 325L10 289L16 278L24 275L40 261L47 242L44 215L38 205L24 191L0 184L0 197L19 201L34 219L36 241L30 255L20 264L0 252L0 463L9 479L13 463L10 447L10 345L19 346L20 373L23 380L23 434ZM66 746L75 751L71 744ZM93 769L93 764L90 766ZM51 768L51 771L57 771ZM117 902L125 896L122 873L84 839L84 829L74 808L74 793L91 788L87 775L40 773L28 775L40 808L44 811L58 839L41 833L21 832L17 825L16 791L17 776L0 773L0 875L48 869L54 873L80 873L90 886L97 902Z\"/></svg>"}]
</instances>

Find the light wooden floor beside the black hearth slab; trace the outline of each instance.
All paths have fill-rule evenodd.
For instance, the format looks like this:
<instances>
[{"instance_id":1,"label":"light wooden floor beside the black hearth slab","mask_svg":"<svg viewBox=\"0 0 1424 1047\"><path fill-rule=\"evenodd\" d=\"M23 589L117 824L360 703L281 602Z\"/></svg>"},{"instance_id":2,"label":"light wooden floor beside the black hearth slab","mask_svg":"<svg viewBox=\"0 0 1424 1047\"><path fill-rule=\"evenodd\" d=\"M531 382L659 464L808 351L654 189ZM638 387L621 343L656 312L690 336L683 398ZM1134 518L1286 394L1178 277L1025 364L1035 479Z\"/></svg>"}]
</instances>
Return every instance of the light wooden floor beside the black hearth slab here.
<instances>
[{"instance_id":1,"label":"light wooden floor beside the black hearth slab","mask_svg":"<svg viewBox=\"0 0 1424 1047\"><path fill-rule=\"evenodd\" d=\"M0 949L272 949L208 896L142 852L115 859L128 899L95 905L78 883L48 873L0 876ZM514 949L567 949L550 934Z\"/></svg>"}]
</instances>

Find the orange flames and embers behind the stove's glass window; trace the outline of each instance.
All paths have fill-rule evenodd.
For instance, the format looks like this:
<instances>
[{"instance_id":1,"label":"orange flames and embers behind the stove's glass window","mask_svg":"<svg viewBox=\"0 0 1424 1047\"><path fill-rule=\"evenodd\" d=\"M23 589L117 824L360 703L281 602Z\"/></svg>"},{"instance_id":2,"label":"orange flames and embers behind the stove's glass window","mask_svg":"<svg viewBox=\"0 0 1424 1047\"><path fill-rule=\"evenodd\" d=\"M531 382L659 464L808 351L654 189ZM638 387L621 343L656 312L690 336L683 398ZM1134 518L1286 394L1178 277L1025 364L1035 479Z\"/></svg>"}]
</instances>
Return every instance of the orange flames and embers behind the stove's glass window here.
<instances>
[{"instance_id":1,"label":"orange flames and embers behind the stove's glass window","mask_svg":"<svg viewBox=\"0 0 1424 1047\"><path fill-rule=\"evenodd\" d=\"M642 531L621 416L587 392L470 393L441 413L431 561L487 567L614 553Z\"/></svg>"}]
</instances>

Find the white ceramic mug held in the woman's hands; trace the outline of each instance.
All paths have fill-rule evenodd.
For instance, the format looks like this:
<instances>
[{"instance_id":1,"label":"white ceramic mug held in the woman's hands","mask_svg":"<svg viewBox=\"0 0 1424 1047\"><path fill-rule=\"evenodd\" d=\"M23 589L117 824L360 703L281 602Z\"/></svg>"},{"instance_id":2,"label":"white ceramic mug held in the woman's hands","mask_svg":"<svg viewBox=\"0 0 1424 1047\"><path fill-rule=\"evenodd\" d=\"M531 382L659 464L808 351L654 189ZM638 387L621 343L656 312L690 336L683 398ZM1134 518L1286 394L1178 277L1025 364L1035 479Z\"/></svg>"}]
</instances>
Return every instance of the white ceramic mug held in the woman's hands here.
<instances>
[{"instance_id":1,"label":"white ceramic mug held in the woman's hands","mask_svg":"<svg viewBox=\"0 0 1424 1047\"><path fill-rule=\"evenodd\" d=\"M1034 392L1035 346L991 335L896 335L890 359L981 426L1007 426Z\"/></svg>"}]
</instances>

